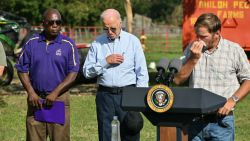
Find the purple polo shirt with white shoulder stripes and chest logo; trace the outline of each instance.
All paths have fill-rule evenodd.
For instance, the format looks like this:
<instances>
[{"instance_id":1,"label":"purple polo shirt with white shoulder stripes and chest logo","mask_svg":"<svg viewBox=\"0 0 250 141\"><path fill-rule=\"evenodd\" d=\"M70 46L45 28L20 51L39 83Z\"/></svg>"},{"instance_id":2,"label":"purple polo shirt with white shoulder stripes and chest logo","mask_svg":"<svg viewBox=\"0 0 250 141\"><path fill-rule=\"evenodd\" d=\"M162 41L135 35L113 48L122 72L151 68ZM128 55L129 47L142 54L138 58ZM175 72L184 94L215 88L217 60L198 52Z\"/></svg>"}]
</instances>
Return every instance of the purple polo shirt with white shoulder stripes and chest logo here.
<instances>
[{"instance_id":1,"label":"purple polo shirt with white shoulder stripes and chest logo","mask_svg":"<svg viewBox=\"0 0 250 141\"><path fill-rule=\"evenodd\" d=\"M36 34L23 46L15 67L18 72L29 73L35 90L51 92L70 72L78 72L76 45L61 34L49 44L43 32Z\"/></svg>"}]
</instances>

